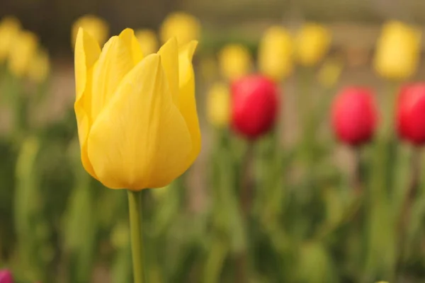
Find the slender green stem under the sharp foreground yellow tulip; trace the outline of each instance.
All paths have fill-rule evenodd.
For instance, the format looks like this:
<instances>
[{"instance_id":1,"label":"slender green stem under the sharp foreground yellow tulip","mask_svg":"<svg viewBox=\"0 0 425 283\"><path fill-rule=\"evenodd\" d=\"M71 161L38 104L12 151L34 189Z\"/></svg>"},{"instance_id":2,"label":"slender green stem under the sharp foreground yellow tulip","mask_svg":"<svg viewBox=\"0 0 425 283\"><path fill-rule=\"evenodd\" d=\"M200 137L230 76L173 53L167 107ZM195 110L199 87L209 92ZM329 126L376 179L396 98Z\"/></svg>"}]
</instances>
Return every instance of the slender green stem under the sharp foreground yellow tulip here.
<instances>
[{"instance_id":1,"label":"slender green stem under the sharp foreground yellow tulip","mask_svg":"<svg viewBox=\"0 0 425 283\"><path fill-rule=\"evenodd\" d=\"M131 253L133 277L135 283L143 283L145 270L143 268L142 241L142 198L141 192L128 190L128 210L130 212Z\"/></svg>"}]
</instances>

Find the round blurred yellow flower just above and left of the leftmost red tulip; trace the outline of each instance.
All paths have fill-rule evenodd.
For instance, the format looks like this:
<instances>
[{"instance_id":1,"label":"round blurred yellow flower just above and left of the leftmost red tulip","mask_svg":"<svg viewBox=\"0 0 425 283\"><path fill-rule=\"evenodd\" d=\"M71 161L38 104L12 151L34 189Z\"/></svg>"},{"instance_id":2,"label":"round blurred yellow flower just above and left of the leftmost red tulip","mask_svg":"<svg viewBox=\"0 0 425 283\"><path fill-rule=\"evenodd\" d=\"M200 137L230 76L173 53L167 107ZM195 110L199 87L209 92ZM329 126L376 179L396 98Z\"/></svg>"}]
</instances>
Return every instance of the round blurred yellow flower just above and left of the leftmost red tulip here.
<instances>
[{"instance_id":1,"label":"round blurred yellow flower just above and left of the leftmost red tulip","mask_svg":"<svg viewBox=\"0 0 425 283\"><path fill-rule=\"evenodd\" d=\"M218 63L222 76L231 81L249 74L253 65L249 50L239 44L223 47L218 54Z\"/></svg>"}]
</instances>

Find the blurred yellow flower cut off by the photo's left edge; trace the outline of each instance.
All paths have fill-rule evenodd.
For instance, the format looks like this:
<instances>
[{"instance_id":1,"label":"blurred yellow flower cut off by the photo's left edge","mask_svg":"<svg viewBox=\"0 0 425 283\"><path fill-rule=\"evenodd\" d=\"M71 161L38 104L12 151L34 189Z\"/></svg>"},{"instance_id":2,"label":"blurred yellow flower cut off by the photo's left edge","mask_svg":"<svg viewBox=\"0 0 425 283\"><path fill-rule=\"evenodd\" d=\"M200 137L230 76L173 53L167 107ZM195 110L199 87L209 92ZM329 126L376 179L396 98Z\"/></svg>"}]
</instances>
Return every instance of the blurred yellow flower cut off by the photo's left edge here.
<instances>
[{"instance_id":1,"label":"blurred yellow flower cut off by the photo's left edge","mask_svg":"<svg viewBox=\"0 0 425 283\"><path fill-rule=\"evenodd\" d=\"M21 30L21 23L15 17L8 16L0 21L0 63L8 57L19 30Z\"/></svg>"}]
</instances>

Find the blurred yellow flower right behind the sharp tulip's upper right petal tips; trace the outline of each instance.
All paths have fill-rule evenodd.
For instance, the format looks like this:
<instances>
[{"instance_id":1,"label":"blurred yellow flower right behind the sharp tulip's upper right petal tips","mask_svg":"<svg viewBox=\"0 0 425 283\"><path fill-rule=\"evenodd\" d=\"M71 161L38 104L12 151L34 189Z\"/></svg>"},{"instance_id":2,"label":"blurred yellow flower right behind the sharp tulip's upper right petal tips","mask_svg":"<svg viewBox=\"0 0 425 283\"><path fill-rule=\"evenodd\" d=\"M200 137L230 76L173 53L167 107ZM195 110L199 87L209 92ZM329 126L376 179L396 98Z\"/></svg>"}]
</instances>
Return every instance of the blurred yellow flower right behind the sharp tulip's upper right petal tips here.
<instances>
[{"instance_id":1,"label":"blurred yellow flower right behind the sharp tulip's upper right petal tips","mask_svg":"<svg viewBox=\"0 0 425 283\"><path fill-rule=\"evenodd\" d=\"M161 40L166 42L171 37L176 37L179 45L198 40L200 37L198 18L183 12L170 13L162 23Z\"/></svg>"}]
</instances>

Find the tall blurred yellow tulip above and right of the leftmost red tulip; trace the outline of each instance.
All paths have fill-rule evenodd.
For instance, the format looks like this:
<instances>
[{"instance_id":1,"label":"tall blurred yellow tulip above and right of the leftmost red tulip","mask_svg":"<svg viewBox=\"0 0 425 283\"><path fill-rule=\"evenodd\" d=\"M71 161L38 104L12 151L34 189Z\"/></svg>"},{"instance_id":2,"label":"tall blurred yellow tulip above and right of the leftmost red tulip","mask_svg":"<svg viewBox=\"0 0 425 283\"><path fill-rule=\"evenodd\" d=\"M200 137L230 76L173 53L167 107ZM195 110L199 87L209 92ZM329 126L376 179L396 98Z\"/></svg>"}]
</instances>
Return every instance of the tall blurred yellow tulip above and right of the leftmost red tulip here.
<instances>
[{"instance_id":1,"label":"tall blurred yellow tulip above and right of the leftmost red tulip","mask_svg":"<svg viewBox=\"0 0 425 283\"><path fill-rule=\"evenodd\" d=\"M285 28L268 28L259 46L259 69L274 81L289 76L293 70L293 42Z\"/></svg>"}]
</instances>

